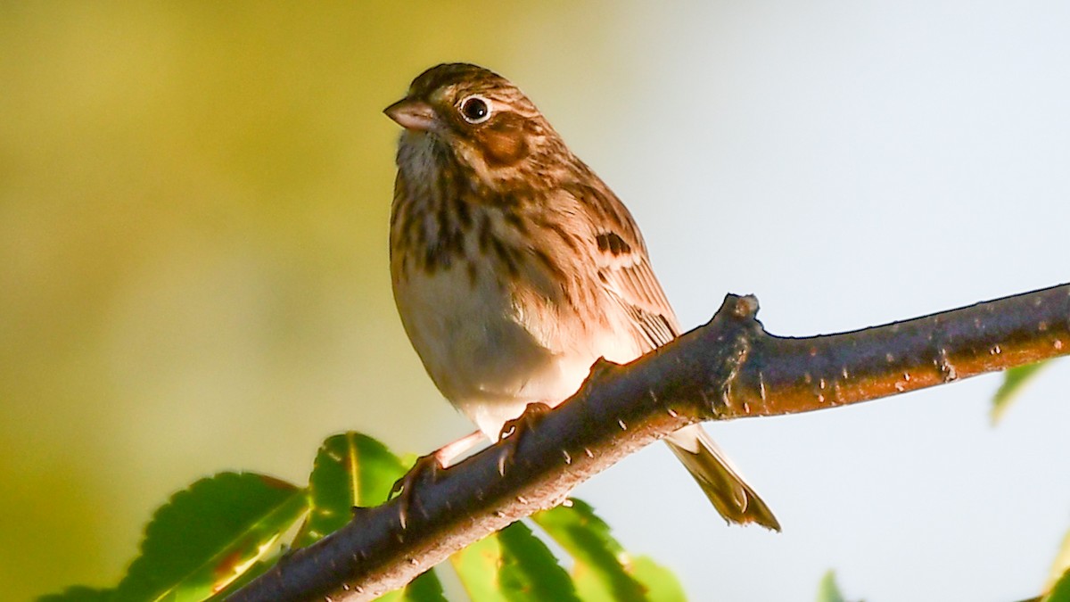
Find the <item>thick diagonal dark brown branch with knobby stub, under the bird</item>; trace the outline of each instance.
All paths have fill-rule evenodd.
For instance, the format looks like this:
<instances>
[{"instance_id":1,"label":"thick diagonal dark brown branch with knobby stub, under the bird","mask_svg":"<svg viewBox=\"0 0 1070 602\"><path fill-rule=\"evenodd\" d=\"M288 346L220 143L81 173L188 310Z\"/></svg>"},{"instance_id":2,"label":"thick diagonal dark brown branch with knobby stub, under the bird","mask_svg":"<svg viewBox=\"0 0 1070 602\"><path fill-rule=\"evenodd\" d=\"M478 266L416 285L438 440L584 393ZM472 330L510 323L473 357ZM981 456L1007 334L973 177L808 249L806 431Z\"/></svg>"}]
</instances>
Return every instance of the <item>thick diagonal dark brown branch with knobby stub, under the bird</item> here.
<instances>
[{"instance_id":1,"label":"thick diagonal dark brown branch with knobby stub, under the bird","mask_svg":"<svg viewBox=\"0 0 1070 602\"><path fill-rule=\"evenodd\" d=\"M729 295L669 345L626 366L599 362L523 437L418 479L403 527L397 499L357 509L230 600L376 598L691 422L824 409L1070 352L1070 285L806 338L768 334L756 312L753 297Z\"/></svg>"}]
</instances>

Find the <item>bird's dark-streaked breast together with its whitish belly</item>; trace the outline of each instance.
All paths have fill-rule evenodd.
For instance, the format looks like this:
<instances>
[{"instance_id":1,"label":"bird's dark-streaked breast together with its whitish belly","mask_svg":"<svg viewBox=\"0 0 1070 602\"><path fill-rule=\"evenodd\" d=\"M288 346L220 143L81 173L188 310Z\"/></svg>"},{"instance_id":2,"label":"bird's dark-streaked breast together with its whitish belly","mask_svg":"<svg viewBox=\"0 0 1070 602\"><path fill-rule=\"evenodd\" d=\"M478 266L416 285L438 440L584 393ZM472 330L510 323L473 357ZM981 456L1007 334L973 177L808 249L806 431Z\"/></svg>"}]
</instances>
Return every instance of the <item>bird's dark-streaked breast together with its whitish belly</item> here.
<instances>
[{"instance_id":1,"label":"bird's dark-streaked breast together with its whitish belly","mask_svg":"<svg viewBox=\"0 0 1070 602\"><path fill-rule=\"evenodd\" d=\"M399 177L395 301L431 379L485 433L530 403L564 401L599 357L638 355L590 261L557 235L509 207L417 190Z\"/></svg>"}]
</instances>

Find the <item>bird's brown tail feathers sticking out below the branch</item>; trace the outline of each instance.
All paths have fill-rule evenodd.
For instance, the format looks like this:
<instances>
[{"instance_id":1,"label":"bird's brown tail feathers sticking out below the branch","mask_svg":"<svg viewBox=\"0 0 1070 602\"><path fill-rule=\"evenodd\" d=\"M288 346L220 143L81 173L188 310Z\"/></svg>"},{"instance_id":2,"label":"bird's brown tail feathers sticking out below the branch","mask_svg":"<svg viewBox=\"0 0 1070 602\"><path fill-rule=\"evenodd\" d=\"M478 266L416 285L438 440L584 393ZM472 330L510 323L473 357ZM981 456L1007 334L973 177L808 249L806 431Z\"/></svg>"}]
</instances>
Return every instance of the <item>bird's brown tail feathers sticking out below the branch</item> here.
<instances>
[{"instance_id":1,"label":"bird's brown tail feathers sticking out below the branch","mask_svg":"<svg viewBox=\"0 0 1070 602\"><path fill-rule=\"evenodd\" d=\"M702 426L681 428L666 442L725 521L739 525L756 523L767 529L780 530L780 523L769 507L732 469Z\"/></svg>"}]
</instances>

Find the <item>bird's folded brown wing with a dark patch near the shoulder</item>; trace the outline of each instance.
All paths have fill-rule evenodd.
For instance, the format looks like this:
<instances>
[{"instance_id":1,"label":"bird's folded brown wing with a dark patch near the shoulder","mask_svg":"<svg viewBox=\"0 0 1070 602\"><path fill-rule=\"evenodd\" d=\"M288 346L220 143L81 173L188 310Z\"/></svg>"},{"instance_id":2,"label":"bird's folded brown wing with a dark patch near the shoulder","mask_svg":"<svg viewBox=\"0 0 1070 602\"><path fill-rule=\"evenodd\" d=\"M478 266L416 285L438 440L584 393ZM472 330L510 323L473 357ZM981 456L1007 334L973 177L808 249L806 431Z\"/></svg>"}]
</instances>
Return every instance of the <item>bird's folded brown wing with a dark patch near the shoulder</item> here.
<instances>
[{"instance_id":1,"label":"bird's folded brown wing with a dark patch near the shoulder","mask_svg":"<svg viewBox=\"0 0 1070 602\"><path fill-rule=\"evenodd\" d=\"M654 275L631 213L605 184L569 192L591 216L592 255L606 290L633 320L649 349L675 338L679 334L676 315Z\"/></svg>"}]
</instances>

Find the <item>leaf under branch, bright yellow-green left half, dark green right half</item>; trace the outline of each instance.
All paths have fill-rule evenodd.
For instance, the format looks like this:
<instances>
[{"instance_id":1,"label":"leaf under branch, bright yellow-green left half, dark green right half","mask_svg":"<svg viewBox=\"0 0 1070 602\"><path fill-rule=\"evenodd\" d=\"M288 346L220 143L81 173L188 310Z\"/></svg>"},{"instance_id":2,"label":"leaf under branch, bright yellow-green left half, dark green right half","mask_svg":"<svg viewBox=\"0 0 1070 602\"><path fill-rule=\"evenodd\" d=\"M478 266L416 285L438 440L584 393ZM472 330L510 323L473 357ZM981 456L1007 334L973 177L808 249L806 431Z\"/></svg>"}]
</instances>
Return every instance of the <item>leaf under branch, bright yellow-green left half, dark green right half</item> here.
<instances>
[{"instance_id":1,"label":"leaf under branch, bright yellow-green left half, dark green right half","mask_svg":"<svg viewBox=\"0 0 1070 602\"><path fill-rule=\"evenodd\" d=\"M568 573L523 523L449 557L473 602L579 600Z\"/></svg>"}]
</instances>

